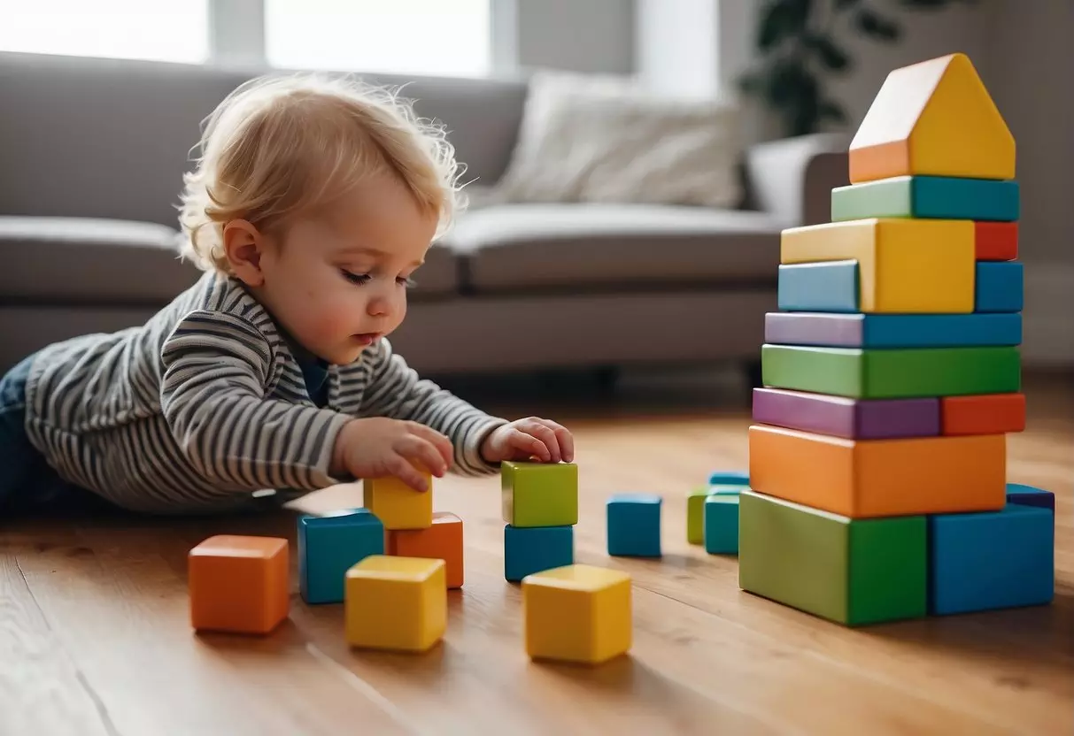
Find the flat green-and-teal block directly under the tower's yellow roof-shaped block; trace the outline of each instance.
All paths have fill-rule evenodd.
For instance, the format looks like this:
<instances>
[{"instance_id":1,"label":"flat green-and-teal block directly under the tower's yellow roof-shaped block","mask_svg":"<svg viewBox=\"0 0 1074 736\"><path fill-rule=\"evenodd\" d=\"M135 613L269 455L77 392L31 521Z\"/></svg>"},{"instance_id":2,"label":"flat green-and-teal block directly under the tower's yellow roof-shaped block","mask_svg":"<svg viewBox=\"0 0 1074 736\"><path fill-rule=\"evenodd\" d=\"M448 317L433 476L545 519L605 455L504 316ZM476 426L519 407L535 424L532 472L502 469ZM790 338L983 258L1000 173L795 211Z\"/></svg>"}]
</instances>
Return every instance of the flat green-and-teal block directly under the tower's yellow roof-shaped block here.
<instances>
[{"instance_id":1,"label":"flat green-and-teal block directly under the tower's yellow roof-shaped block","mask_svg":"<svg viewBox=\"0 0 1074 736\"><path fill-rule=\"evenodd\" d=\"M1017 181L895 176L831 190L831 220L912 217L1012 222L1020 214Z\"/></svg>"}]
</instances>

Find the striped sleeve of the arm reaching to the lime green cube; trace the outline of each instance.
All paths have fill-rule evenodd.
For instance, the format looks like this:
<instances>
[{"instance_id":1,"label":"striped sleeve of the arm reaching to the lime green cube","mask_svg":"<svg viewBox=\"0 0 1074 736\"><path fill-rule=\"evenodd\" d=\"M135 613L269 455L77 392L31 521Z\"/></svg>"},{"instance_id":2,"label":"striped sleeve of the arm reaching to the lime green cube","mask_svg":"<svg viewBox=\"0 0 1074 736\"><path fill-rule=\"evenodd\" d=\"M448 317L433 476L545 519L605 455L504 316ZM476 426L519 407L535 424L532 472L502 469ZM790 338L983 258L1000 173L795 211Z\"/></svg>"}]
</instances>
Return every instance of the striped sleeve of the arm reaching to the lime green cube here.
<instances>
[{"instance_id":1,"label":"striped sleeve of the arm reaching to the lime green cube","mask_svg":"<svg viewBox=\"0 0 1074 736\"><path fill-rule=\"evenodd\" d=\"M491 416L429 379L418 376L381 338L371 348L369 384L362 401L363 416L389 416L424 424L448 437L455 448L454 470L462 475L498 472L485 462L481 443L490 431L507 424Z\"/></svg>"}]
</instances>

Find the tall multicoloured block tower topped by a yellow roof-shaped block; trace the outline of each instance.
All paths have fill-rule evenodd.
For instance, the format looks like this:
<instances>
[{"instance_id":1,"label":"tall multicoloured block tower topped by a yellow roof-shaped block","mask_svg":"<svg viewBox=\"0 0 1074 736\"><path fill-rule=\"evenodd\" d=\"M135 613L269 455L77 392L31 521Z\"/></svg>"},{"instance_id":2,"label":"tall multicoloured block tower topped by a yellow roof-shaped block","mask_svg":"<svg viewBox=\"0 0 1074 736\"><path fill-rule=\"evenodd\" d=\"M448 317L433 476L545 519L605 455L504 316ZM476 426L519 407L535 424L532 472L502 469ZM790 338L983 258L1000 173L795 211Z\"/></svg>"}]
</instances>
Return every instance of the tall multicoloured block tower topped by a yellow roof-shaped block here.
<instances>
[{"instance_id":1,"label":"tall multicoloured block tower topped by a yellow roof-shaped block","mask_svg":"<svg viewBox=\"0 0 1074 736\"><path fill-rule=\"evenodd\" d=\"M1014 174L970 60L925 61L882 86L832 221L783 232L744 590L848 625L1051 600L1054 497L1005 483L1026 422Z\"/></svg>"}]
</instances>

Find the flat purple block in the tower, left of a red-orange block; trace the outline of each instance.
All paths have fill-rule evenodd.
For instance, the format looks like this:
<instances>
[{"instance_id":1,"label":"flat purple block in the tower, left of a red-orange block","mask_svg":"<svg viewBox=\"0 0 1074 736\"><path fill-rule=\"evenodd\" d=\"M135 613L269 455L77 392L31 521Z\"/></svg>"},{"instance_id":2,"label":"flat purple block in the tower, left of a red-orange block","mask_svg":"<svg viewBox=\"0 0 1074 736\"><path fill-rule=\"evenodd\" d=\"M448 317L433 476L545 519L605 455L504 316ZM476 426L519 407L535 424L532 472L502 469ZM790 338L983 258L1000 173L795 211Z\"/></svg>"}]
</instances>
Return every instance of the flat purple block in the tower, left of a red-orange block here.
<instances>
[{"instance_id":1,"label":"flat purple block in the tower, left of a red-orange block","mask_svg":"<svg viewBox=\"0 0 1074 736\"><path fill-rule=\"evenodd\" d=\"M937 437L940 399L850 399L783 388L754 388L753 419L851 440Z\"/></svg>"}]
</instances>

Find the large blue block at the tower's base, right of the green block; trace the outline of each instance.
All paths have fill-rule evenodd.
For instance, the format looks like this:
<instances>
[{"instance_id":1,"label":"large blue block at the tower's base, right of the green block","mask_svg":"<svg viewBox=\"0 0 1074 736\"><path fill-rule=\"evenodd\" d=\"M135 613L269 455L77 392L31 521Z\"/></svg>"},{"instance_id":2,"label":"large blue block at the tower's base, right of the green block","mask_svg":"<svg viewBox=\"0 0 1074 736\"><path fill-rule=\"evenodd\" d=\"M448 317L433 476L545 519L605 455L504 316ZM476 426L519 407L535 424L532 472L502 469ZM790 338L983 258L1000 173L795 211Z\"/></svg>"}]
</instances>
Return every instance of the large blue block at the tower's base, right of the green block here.
<instances>
[{"instance_id":1,"label":"large blue block at the tower's base, right of the green block","mask_svg":"<svg viewBox=\"0 0 1074 736\"><path fill-rule=\"evenodd\" d=\"M1008 503L1000 511L929 517L929 614L1049 603L1054 515Z\"/></svg>"}]
</instances>

